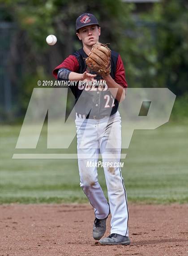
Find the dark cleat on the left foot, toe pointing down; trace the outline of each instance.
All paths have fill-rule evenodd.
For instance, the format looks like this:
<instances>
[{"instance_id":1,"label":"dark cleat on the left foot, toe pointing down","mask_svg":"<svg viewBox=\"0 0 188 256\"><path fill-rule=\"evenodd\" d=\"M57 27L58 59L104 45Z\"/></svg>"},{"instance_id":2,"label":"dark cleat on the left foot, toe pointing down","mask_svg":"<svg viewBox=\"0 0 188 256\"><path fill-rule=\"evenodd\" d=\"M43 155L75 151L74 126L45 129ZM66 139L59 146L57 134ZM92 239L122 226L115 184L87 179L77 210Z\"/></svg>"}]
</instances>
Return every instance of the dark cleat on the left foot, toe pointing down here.
<instances>
[{"instance_id":1,"label":"dark cleat on the left foot, toe pointing down","mask_svg":"<svg viewBox=\"0 0 188 256\"><path fill-rule=\"evenodd\" d=\"M109 205L109 203L108 203L108 205ZM108 215L109 214L110 214L110 206L109 206ZM101 219L101 220L99 220L98 218L95 218L94 227L93 227L93 238L95 240L99 240L100 238L102 238L104 233L106 232L107 217L105 219Z\"/></svg>"}]
</instances>

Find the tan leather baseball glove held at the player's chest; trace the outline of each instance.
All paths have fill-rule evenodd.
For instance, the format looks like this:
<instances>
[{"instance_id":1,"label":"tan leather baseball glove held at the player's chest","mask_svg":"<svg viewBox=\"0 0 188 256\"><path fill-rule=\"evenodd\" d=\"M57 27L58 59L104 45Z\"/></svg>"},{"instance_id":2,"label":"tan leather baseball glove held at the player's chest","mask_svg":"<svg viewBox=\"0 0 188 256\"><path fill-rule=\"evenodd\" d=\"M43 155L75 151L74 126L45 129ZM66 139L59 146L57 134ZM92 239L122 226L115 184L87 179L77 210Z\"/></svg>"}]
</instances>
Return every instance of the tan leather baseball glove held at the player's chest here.
<instances>
[{"instance_id":1,"label":"tan leather baseball glove held at the player's chest","mask_svg":"<svg viewBox=\"0 0 188 256\"><path fill-rule=\"evenodd\" d=\"M111 50L106 44L97 42L93 45L89 57L85 59L86 65L101 76L111 72Z\"/></svg>"}]
</instances>

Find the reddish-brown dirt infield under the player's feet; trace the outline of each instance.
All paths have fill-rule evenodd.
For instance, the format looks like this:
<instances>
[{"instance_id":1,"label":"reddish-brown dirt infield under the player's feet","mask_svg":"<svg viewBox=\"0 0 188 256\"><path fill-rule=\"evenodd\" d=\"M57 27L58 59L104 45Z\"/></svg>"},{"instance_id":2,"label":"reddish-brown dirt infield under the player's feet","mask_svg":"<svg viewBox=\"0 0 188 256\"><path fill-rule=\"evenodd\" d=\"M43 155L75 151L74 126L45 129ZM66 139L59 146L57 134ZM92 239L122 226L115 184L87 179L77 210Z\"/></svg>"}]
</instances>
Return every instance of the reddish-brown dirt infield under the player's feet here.
<instances>
[{"instance_id":1,"label":"reddish-brown dirt infield under the player's feet","mask_svg":"<svg viewBox=\"0 0 188 256\"><path fill-rule=\"evenodd\" d=\"M131 245L92 238L90 204L1 205L0 256L185 256L187 205L129 204ZM110 231L110 218L107 232Z\"/></svg>"}]
</instances>

